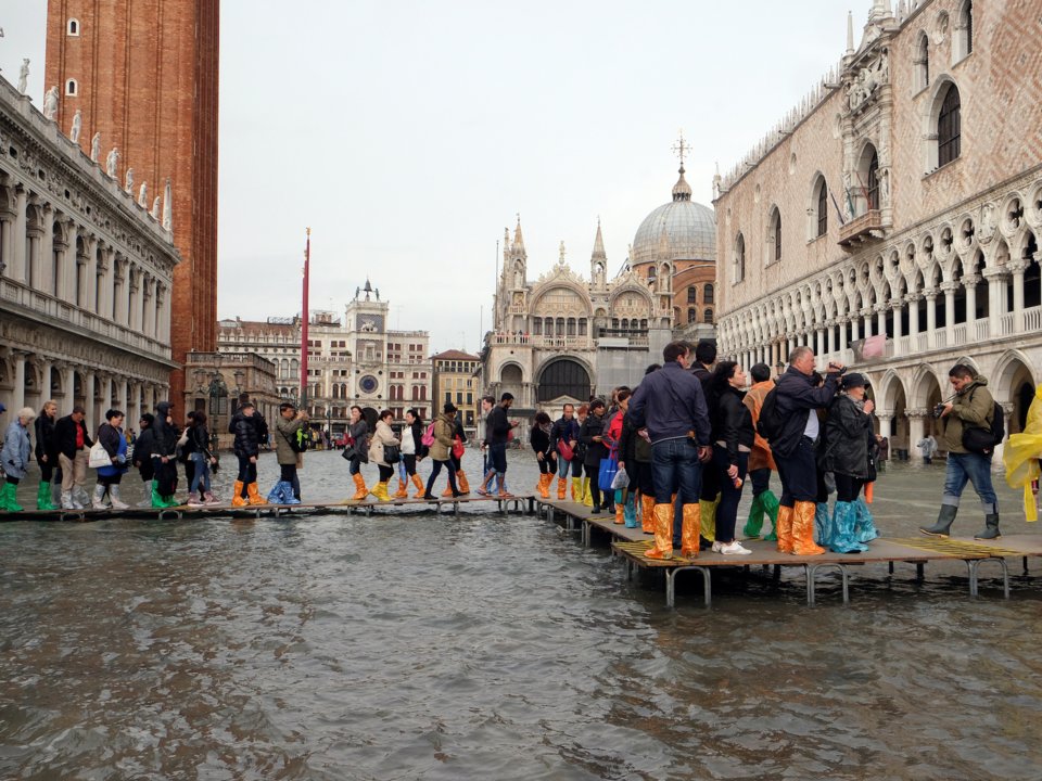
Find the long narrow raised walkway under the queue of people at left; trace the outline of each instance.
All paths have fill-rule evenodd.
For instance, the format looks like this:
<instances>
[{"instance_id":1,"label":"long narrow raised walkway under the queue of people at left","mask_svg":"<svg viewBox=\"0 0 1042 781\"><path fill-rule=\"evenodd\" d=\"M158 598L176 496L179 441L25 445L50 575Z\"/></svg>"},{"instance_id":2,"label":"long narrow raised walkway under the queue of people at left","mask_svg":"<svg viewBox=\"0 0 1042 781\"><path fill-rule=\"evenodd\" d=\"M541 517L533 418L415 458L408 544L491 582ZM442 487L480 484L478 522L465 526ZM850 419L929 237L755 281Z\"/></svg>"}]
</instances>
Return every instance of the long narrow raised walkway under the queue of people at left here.
<instances>
[{"instance_id":1,"label":"long narrow raised walkway under the queue of people at left","mask_svg":"<svg viewBox=\"0 0 1042 781\"><path fill-rule=\"evenodd\" d=\"M246 504L243 507L232 507L231 504L207 504L205 507L188 507L179 504L171 508L137 508L130 507L126 510L30 510L26 508L22 512L9 513L0 511L0 522L13 521L54 521L65 523L85 523L91 521L106 521L111 518L142 518L156 521L202 521L206 518L262 518L262 517L288 517L301 515L328 515L330 513L345 514L365 514L372 515L395 512L403 508L429 510L434 509L439 515L445 510L447 513L452 510L454 515L459 514L461 507L472 504L495 504L496 510L503 514L514 513L535 513L535 497L529 494L520 494L509 499L498 497L483 497L476 495L466 495L461 497L439 497L436 499L392 499L391 501L379 501L373 497L367 497L364 500L348 499L340 502L305 502L302 504Z\"/></svg>"}]
</instances>

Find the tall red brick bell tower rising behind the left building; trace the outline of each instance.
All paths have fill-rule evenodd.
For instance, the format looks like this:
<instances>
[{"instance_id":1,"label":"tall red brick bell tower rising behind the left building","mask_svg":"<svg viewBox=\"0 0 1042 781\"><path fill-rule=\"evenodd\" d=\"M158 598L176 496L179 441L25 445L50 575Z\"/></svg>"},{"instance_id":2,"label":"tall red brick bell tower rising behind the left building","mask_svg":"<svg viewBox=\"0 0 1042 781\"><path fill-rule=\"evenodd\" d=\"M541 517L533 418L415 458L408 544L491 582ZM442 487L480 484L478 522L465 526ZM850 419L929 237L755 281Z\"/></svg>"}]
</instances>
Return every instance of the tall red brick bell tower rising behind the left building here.
<instances>
[{"instance_id":1,"label":"tall red brick bell tower rising behind the left building","mask_svg":"<svg viewBox=\"0 0 1042 781\"><path fill-rule=\"evenodd\" d=\"M79 110L79 146L99 164L114 146L116 178L134 168L148 203L169 181L174 243L170 345L175 361L217 349L217 79L219 0L48 0L47 87L58 86L67 135ZM170 375L183 399L185 372ZM179 410L181 412L183 410Z\"/></svg>"}]
</instances>

